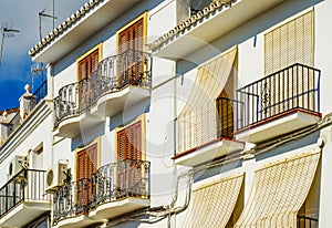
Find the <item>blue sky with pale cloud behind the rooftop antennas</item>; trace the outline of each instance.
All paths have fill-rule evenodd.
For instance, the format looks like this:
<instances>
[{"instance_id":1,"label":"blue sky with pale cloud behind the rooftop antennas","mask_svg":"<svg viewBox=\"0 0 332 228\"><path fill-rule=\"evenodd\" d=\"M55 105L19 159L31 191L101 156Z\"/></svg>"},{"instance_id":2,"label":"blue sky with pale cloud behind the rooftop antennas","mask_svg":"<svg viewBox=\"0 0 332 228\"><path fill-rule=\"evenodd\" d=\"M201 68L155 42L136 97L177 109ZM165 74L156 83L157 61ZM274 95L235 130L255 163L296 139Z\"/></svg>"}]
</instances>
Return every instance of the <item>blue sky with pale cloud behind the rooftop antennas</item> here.
<instances>
[{"instance_id":1,"label":"blue sky with pale cloud behind the rooftop antennas","mask_svg":"<svg viewBox=\"0 0 332 228\"><path fill-rule=\"evenodd\" d=\"M39 12L52 13L55 6L55 27L75 12L89 0L0 0L0 28L20 30L13 38L4 38L0 65L0 111L19 106L24 85L32 82L32 62L29 50L39 42ZM52 30L52 19L43 17L42 35ZM2 40L1 31L0 42ZM41 83L41 76L33 74L33 87Z\"/></svg>"}]
</instances>

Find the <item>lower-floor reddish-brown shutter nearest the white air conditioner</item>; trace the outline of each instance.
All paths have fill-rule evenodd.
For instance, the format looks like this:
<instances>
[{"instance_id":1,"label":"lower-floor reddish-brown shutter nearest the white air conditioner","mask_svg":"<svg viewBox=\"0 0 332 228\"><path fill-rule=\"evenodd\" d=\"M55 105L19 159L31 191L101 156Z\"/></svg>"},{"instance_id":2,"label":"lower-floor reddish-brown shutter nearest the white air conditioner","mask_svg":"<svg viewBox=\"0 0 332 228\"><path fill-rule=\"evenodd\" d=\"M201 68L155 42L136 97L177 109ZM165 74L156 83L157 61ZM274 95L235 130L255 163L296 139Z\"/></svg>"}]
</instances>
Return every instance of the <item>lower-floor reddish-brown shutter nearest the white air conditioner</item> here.
<instances>
[{"instance_id":1,"label":"lower-floor reddish-brown shutter nearest the white air conditioner","mask_svg":"<svg viewBox=\"0 0 332 228\"><path fill-rule=\"evenodd\" d=\"M82 213L87 208L92 195L90 179L97 170L97 143L80 151L76 164L77 211Z\"/></svg>"}]
</instances>

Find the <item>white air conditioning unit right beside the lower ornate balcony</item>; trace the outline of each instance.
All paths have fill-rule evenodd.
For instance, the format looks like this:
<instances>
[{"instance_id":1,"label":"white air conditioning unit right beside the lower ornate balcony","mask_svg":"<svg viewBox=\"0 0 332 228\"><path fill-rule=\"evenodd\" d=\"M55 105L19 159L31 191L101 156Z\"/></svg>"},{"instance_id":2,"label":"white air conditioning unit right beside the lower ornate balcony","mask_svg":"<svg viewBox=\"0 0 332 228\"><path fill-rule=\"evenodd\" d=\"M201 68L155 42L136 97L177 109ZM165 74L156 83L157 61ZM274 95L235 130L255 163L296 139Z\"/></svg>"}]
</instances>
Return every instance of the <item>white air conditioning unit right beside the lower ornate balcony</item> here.
<instances>
[{"instance_id":1,"label":"white air conditioning unit right beside the lower ornate balcony","mask_svg":"<svg viewBox=\"0 0 332 228\"><path fill-rule=\"evenodd\" d=\"M66 178L68 164L58 163L48 168L45 175L45 190L46 193L54 191L56 187L63 185L63 180Z\"/></svg>"}]
</instances>

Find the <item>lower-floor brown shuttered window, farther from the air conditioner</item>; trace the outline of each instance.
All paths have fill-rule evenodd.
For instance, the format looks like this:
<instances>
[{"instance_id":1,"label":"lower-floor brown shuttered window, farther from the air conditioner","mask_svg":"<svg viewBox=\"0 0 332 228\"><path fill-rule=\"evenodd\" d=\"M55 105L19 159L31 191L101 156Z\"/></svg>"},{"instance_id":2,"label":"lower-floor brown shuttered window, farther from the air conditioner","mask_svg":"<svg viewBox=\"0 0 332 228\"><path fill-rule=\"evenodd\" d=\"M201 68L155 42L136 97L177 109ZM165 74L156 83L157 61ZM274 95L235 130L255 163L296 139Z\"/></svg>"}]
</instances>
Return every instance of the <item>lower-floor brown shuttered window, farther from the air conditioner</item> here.
<instances>
[{"instance_id":1,"label":"lower-floor brown shuttered window, farther from the air conditioner","mask_svg":"<svg viewBox=\"0 0 332 228\"><path fill-rule=\"evenodd\" d=\"M117 187L120 196L135 196L142 188L142 121L117 133Z\"/></svg>"}]
</instances>

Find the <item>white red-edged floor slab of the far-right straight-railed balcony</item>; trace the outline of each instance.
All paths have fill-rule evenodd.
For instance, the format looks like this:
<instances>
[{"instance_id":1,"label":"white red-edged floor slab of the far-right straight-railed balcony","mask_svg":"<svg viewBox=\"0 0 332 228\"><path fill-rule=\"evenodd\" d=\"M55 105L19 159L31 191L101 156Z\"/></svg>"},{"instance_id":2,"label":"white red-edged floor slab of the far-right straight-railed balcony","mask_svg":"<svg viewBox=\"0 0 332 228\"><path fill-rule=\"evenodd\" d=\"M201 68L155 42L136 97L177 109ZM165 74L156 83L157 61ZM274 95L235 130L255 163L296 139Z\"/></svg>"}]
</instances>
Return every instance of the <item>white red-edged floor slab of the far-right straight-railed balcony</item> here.
<instances>
[{"instance_id":1,"label":"white red-edged floor slab of the far-right straight-railed balcony","mask_svg":"<svg viewBox=\"0 0 332 228\"><path fill-rule=\"evenodd\" d=\"M301 108L293 108L289 112L281 113L274 117L270 117L252 124L246 128L237 131L236 139L259 143L289 132L293 132L321 120L321 114Z\"/></svg>"}]
</instances>

